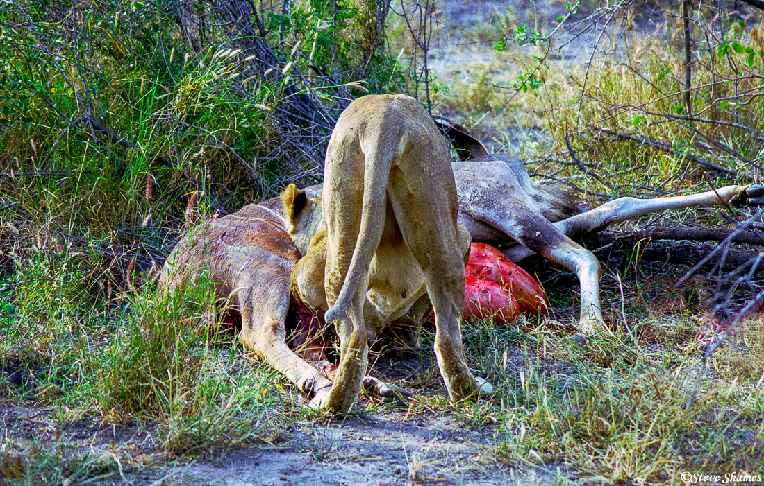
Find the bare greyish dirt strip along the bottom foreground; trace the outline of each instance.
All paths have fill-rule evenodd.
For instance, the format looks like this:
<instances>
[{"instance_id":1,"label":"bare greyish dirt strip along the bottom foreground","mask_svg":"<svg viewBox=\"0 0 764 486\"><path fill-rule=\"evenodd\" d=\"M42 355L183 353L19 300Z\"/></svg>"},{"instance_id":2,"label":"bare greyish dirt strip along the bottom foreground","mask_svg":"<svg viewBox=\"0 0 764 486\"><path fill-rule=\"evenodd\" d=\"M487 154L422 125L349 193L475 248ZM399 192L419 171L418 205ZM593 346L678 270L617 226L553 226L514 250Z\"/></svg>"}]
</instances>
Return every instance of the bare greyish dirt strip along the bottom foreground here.
<instances>
[{"instance_id":1,"label":"bare greyish dirt strip along the bottom foreground","mask_svg":"<svg viewBox=\"0 0 764 486\"><path fill-rule=\"evenodd\" d=\"M449 414L410 415L406 407L298 422L270 443L201 460L162 455L151 439L151 423L84 419L62 426L60 410L15 404L0 404L0 414L3 439L118 464L105 478L91 478L94 484L561 484L575 478L550 466L490 459L487 448L501 435L496 426L469 428Z\"/></svg>"}]
</instances>

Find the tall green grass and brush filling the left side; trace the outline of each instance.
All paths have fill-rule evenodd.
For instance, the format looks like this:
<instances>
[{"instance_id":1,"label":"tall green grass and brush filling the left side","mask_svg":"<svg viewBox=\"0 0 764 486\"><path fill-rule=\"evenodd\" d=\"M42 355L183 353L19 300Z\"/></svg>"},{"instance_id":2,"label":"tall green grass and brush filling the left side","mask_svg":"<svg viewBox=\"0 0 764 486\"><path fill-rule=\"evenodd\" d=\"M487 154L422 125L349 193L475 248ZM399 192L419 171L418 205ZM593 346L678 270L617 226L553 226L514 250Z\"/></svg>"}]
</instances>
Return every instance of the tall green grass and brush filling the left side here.
<instances>
[{"instance_id":1,"label":"tall green grass and brush filling the left side","mask_svg":"<svg viewBox=\"0 0 764 486\"><path fill-rule=\"evenodd\" d=\"M158 267L200 219L315 181L348 84L395 89L406 69L351 2L259 11L266 47L219 5L183 5L0 11L0 398L60 426L137 421L167 458L273 440L299 401L215 334L209 282L163 294ZM0 481L115 471L15 446Z\"/></svg>"}]
</instances>

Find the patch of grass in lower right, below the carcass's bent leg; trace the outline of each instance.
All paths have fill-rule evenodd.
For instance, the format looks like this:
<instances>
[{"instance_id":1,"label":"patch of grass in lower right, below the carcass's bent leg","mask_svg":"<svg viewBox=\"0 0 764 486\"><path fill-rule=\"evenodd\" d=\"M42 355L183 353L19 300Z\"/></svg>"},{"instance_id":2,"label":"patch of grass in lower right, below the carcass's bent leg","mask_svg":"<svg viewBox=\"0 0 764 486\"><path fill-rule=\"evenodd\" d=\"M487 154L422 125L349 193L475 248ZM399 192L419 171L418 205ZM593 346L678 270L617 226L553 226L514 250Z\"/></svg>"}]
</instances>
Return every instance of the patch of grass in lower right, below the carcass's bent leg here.
<instances>
[{"instance_id":1,"label":"patch of grass in lower right, below the carcass's bent leg","mask_svg":"<svg viewBox=\"0 0 764 486\"><path fill-rule=\"evenodd\" d=\"M620 330L581 346L553 324L465 327L471 366L497 391L441 408L465 423L498 427L490 459L648 483L678 481L682 471L761 468L764 395L756 384L764 366L756 345L715 355L714 372L685 410L685 380L698 352L682 336L656 343L654 334L638 332L635 343ZM757 320L743 327L738 342L756 340L760 326Z\"/></svg>"}]
</instances>

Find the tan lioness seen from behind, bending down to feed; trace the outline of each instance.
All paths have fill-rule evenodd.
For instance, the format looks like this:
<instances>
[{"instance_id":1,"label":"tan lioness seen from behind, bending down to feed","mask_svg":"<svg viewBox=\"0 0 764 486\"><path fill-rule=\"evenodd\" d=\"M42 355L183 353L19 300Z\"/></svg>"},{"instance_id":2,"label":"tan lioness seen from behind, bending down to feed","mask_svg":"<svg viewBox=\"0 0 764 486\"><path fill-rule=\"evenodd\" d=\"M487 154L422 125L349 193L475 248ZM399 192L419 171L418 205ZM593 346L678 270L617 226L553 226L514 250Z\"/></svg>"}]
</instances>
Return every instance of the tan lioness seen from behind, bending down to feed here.
<instances>
[{"instance_id":1,"label":"tan lioness seen from behind, bending down to feed","mask_svg":"<svg viewBox=\"0 0 764 486\"><path fill-rule=\"evenodd\" d=\"M404 95L358 98L337 121L324 171L321 204L293 187L283 195L287 229L305 255L292 272L293 293L325 310L340 338L335 381L316 390L312 406L350 409L366 370L367 333L425 293L449 396L490 391L464 359L459 323L470 235L458 223L445 141L426 111Z\"/></svg>"}]
</instances>

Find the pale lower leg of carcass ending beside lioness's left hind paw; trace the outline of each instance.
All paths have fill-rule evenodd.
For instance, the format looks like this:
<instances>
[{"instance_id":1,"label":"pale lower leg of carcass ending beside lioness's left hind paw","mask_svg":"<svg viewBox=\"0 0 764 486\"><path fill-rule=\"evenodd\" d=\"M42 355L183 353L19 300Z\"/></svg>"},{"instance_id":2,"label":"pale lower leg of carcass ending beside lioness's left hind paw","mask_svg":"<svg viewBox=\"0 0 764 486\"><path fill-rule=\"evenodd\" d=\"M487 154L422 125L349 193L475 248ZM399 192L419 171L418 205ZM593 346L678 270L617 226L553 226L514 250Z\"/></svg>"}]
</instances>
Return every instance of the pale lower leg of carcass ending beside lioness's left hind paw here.
<instances>
[{"instance_id":1,"label":"pale lower leg of carcass ending beside lioness's left hind paw","mask_svg":"<svg viewBox=\"0 0 764 486\"><path fill-rule=\"evenodd\" d=\"M332 385L332 381L286 346L286 311L289 307L289 280L286 285L240 290L241 335L244 346L257 352L278 372L286 375L303 393L312 397ZM263 310L254 312L253 309Z\"/></svg>"}]
</instances>

